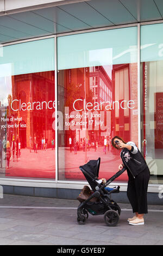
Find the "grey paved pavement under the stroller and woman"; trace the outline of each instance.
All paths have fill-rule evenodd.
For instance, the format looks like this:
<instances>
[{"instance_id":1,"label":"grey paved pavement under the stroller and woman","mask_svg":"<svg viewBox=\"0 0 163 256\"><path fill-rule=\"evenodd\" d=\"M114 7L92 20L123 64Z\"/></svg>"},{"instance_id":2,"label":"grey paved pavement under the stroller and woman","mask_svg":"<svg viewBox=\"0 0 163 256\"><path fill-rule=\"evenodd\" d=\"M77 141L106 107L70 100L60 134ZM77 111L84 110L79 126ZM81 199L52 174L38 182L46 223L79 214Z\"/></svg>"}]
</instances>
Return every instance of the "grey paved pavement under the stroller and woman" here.
<instances>
[{"instance_id":1,"label":"grey paved pavement under the stroller and woman","mask_svg":"<svg viewBox=\"0 0 163 256\"><path fill-rule=\"evenodd\" d=\"M118 203L118 202L117 202ZM77 200L4 194L0 199L0 245L163 245L163 206L148 205L145 225L132 226L129 204L116 227L103 215L77 223Z\"/></svg>"}]
</instances>

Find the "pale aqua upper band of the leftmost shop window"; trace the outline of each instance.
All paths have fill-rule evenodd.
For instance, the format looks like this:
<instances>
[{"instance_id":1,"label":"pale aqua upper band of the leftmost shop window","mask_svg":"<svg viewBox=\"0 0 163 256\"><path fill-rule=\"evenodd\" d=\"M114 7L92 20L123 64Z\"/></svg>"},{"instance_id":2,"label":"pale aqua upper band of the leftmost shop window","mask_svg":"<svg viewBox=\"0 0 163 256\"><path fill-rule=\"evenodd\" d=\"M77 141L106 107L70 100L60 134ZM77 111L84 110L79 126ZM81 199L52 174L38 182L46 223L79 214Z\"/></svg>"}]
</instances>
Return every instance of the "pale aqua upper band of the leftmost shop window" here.
<instances>
[{"instance_id":1,"label":"pale aqua upper band of the leftmost shop window","mask_svg":"<svg viewBox=\"0 0 163 256\"><path fill-rule=\"evenodd\" d=\"M0 65L0 77L54 70L54 39L2 46Z\"/></svg>"}]
</instances>

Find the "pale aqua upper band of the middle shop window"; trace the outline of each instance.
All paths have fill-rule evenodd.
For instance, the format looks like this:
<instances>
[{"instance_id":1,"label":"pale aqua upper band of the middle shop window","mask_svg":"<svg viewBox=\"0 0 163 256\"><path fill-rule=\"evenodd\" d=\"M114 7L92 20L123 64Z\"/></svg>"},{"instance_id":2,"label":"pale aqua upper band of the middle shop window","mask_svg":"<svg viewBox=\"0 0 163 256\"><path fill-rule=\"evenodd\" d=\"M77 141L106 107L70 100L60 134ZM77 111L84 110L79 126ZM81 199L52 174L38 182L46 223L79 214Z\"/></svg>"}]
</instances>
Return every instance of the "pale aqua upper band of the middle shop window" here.
<instances>
[{"instance_id":1,"label":"pale aqua upper band of the middle shop window","mask_svg":"<svg viewBox=\"0 0 163 256\"><path fill-rule=\"evenodd\" d=\"M137 62L137 27L60 36L57 42L58 70Z\"/></svg>"}]
</instances>

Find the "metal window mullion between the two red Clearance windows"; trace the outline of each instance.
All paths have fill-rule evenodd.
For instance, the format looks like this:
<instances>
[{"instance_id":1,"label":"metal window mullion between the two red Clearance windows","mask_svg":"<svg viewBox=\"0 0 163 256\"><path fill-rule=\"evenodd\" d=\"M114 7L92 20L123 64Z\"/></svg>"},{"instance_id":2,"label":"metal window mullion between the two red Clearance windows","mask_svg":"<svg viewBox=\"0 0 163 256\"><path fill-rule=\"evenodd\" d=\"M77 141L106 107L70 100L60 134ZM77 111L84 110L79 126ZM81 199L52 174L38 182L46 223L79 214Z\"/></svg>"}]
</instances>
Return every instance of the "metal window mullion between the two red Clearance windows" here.
<instances>
[{"instance_id":1,"label":"metal window mullion between the two red Clearance windows","mask_svg":"<svg viewBox=\"0 0 163 256\"><path fill-rule=\"evenodd\" d=\"M57 79L57 36L54 36L54 66L55 66L55 181L58 182L58 79Z\"/></svg>"}]
</instances>

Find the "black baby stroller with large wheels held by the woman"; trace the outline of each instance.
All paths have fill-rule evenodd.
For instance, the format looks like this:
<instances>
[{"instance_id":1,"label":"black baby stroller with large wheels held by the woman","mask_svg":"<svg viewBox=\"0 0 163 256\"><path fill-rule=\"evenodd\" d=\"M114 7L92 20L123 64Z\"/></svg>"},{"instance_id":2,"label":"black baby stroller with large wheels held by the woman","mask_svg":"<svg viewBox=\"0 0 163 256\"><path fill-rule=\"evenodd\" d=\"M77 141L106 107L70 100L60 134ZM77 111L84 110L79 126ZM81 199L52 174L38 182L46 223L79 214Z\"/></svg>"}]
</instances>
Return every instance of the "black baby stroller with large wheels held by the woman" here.
<instances>
[{"instance_id":1,"label":"black baby stroller with large wheels held by the woman","mask_svg":"<svg viewBox=\"0 0 163 256\"><path fill-rule=\"evenodd\" d=\"M110 191L105 190L105 187L120 176L126 168L118 171L114 176L107 180L105 184L99 184L98 173L100 161L101 159L99 157L98 160L90 160L83 166L79 167L92 188L92 194L89 198L84 200L84 202L79 204L77 210L77 222L78 224L85 224L89 214L104 215L106 225L112 227L116 226L119 221L121 208L116 202L114 202L114 200L110 199L109 195L111 193L120 192L120 186L117 186Z\"/></svg>"}]
</instances>

